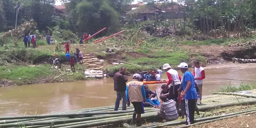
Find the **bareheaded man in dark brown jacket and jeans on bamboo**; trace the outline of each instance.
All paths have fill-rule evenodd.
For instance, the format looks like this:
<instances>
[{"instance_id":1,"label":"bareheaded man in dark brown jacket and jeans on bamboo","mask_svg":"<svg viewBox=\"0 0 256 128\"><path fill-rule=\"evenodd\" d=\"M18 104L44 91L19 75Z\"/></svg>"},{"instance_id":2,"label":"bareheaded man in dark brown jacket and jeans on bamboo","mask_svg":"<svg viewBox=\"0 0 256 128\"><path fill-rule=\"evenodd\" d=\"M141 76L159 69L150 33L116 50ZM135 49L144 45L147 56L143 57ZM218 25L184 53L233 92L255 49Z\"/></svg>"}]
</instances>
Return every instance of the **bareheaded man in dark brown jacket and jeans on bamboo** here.
<instances>
[{"instance_id":1,"label":"bareheaded man in dark brown jacket and jeans on bamboo","mask_svg":"<svg viewBox=\"0 0 256 128\"><path fill-rule=\"evenodd\" d=\"M128 77L125 75L126 68L121 67L120 71L115 74L114 79L114 90L116 91L116 103L114 111L117 111L119 108L120 100L123 99L122 110L126 110L126 82Z\"/></svg>"}]
</instances>

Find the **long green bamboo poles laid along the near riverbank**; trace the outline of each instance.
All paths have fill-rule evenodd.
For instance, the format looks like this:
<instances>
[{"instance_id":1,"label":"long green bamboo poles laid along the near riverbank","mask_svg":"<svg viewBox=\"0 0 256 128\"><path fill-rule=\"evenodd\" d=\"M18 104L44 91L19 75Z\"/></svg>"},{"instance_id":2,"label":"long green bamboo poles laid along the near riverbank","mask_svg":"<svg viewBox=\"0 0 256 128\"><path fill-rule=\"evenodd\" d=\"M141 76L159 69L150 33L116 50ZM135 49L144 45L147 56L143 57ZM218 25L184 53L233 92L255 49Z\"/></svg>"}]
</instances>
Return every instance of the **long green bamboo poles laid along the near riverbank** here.
<instances>
[{"instance_id":1,"label":"long green bamboo poles laid along the near riverbank","mask_svg":"<svg viewBox=\"0 0 256 128\"><path fill-rule=\"evenodd\" d=\"M205 110L219 107L228 107L243 104L255 104L256 103L256 90L249 90L249 94L241 93L214 93L214 95L203 96L202 104L198 106L199 111L205 112ZM120 106L121 107L121 106ZM113 111L114 106L99 107L99 108L86 108L80 110L73 110L68 112L59 112L44 115L33 116L2 116L0 117L1 128L85 128L94 127L107 124L120 124L130 123L132 120L132 114L134 108L127 107L126 111ZM142 119L156 118L158 108L144 108L145 114L142 114ZM253 110L256 111L256 110ZM251 111L247 111L251 112ZM204 116L211 116L213 113L204 113ZM226 115L225 115L226 116ZM228 115L232 116L232 115ZM206 117L202 119L196 119L196 121L206 121L212 119L219 119L224 116ZM161 126L170 126L184 124L184 120L175 120L168 123L156 125L148 125L144 127L155 128Z\"/></svg>"}]
</instances>

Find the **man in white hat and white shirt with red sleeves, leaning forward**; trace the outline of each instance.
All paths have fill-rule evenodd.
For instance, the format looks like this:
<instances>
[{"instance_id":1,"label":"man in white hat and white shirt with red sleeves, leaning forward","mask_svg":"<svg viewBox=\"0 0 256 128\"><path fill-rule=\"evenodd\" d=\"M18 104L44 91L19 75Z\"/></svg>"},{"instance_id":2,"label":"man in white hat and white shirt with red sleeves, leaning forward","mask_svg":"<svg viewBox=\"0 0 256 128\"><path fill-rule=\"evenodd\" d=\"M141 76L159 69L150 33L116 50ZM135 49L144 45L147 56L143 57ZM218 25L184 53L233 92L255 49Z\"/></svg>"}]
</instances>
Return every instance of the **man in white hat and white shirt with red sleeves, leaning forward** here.
<instances>
[{"instance_id":1,"label":"man in white hat and white shirt with red sleeves, leaning forward","mask_svg":"<svg viewBox=\"0 0 256 128\"><path fill-rule=\"evenodd\" d=\"M176 103L178 102L178 89L180 88L180 81L181 77L179 73L172 69L172 67L169 64L163 65L163 70L166 71L167 77L169 79L168 83L166 84L166 88L171 84L170 90L169 90L169 100L174 100ZM177 104L177 108L179 108L179 105Z\"/></svg>"}]
</instances>

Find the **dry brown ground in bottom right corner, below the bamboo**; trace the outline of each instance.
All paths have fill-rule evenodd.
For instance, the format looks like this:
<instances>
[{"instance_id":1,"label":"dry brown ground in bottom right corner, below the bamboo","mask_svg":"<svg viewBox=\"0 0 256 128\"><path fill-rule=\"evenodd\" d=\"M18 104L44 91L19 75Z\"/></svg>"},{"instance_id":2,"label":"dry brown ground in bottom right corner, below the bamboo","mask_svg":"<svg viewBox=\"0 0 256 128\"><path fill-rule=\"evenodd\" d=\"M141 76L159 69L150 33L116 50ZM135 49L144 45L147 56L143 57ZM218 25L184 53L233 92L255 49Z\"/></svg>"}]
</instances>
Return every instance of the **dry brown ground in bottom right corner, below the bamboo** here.
<instances>
[{"instance_id":1,"label":"dry brown ground in bottom right corner, below the bamboo","mask_svg":"<svg viewBox=\"0 0 256 128\"><path fill-rule=\"evenodd\" d=\"M196 125L191 128L255 128L256 114L238 116L234 118Z\"/></svg>"}]
</instances>

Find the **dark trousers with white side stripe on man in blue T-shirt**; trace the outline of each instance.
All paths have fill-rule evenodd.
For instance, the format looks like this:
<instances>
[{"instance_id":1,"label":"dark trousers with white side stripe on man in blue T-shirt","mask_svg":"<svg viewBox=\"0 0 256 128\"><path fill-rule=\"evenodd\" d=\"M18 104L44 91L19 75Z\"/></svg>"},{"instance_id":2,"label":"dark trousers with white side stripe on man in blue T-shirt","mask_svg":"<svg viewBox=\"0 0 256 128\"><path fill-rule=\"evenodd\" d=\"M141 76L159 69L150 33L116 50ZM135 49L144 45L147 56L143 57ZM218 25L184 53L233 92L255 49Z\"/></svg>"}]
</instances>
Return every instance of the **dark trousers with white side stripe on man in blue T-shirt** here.
<instances>
[{"instance_id":1,"label":"dark trousers with white side stripe on man in blue T-shirt","mask_svg":"<svg viewBox=\"0 0 256 128\"><path fill-rule=\"evenodd\" d=\"M186 110L186 124L194 124L194 114L195 114L195 107L196 107L196 100L195 99L185 99L185 110Z\"/></svg>"}]
</instances>

